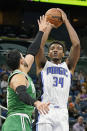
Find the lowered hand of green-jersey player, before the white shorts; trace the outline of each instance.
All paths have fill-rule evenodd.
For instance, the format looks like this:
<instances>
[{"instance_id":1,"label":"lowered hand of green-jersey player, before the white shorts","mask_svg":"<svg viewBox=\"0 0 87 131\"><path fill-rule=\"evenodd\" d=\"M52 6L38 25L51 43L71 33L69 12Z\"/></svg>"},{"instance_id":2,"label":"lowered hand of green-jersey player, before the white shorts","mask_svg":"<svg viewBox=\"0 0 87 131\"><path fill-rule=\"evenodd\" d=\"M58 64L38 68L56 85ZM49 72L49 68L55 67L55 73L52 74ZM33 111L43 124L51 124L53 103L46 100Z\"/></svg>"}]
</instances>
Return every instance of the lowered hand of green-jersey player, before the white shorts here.
<instances>
[{"instance_id":1,"label":"lowered hand of green-jersey player, before the white shorts","mask_svg":"<svg viewBox=\"0 0 87 131\"><path fill-rule=\"evenodd\" d=\"M47 114L49 111L49 105L50 105L49 102L44 103L44 102L36 101L34 105L36 106L40 114Z\"/></svg>"}]
</instances>

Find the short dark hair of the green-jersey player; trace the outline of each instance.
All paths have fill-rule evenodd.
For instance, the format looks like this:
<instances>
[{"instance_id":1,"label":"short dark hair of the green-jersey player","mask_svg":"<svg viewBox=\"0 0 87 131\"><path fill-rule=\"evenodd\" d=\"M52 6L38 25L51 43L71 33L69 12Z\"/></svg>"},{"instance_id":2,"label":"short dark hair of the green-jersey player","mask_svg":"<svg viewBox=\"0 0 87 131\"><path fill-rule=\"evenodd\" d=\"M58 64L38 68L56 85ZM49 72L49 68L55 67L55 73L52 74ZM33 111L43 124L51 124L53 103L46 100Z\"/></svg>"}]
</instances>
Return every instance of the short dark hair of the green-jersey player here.
<instances>
[{"instance_id":1,"label":"short dark hair of the green-jersey player","mask_svg":"<svg viewBox=\"0 0 87 131\"><path fill-rule=\"evenodd\" d=\"M7 65L12 70L18 69L20 64L21 54L17 49L8 51L6 56Z\"/></svg>"}]
</instances>

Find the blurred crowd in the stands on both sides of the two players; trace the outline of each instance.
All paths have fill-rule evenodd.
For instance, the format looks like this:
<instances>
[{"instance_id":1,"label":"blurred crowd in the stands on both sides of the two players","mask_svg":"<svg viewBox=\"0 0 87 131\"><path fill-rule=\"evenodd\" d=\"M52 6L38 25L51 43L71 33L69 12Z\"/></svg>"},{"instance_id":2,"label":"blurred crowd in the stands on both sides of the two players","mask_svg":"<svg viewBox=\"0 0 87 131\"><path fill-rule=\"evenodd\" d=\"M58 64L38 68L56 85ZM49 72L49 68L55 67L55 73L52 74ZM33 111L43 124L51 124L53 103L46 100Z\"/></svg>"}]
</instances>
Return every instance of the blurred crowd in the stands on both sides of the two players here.
<instances>
[{"instance_id":1,"label":"blurred crowd in the stands on both sides of the two players","mask_svg":"<svg viewBox=\"0 0 87 131\"><path fill-rule=\"evenodd\" d=\"M7 107L6 93L8 86L9 70L5 64L0 66L0 105ZM35 77L33 77L35 79ZM37 79L37 78L36 78ZM33 80L36 89L40 83L40 79ZM37 97L40 95L38 89ZM76 71L72 77L72 84L68 98L68 112L70 131L87 131L87 75L80 71ZM6 117L6 111L2 111L2 115Z\"/></svg>"}]
</instances>

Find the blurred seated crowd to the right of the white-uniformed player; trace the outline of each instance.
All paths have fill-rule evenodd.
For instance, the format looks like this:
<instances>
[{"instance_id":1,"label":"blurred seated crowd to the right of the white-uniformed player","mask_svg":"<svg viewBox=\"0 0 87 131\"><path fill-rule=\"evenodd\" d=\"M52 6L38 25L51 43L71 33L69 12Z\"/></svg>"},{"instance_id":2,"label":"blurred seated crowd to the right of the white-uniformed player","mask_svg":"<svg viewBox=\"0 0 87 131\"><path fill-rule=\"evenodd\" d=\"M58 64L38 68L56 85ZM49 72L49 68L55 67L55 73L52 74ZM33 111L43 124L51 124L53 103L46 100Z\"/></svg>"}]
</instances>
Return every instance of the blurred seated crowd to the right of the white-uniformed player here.
<instances>
[{"instance_id":1,"label":"blurred seated crowd to the right of the white-uniformed player","mask_svg":"<svg viewBox=\"0 0 87 131\"><path fill-rule=\"evenodd\" d=\"M73 131L87 130L87 75L82 71L75 72L72 78L68 111Z\"/></svg>"}]
</instances>

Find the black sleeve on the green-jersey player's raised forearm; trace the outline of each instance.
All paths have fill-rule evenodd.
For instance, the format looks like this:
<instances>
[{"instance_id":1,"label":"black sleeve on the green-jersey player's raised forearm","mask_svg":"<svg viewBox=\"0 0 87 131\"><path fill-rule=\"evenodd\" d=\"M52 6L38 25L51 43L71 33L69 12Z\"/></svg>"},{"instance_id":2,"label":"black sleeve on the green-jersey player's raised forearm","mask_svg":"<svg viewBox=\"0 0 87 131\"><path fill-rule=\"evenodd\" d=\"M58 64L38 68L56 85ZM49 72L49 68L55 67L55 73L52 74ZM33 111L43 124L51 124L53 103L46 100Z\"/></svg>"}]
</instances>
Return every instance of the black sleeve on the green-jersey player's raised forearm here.
<instances>
[{"instance_id":1,"label":"black sleeve on the green-jersey player's raised forearm","mask_svg":"<svg viewBox=\"0 0 87 131\"><path fill-rule=\"evenodd\" d=\"M43 33L42 31L39 31L33 41L33 43L28 47L28 51L27 53L28 54L31 54L33 56L35 56L40 48L40 44L41 44L41 39L42 39L42 36L43 36Z\"/></svg>"}]
</instances>

